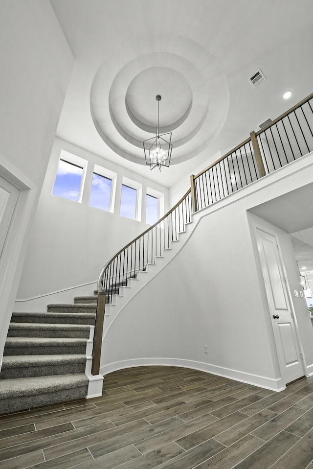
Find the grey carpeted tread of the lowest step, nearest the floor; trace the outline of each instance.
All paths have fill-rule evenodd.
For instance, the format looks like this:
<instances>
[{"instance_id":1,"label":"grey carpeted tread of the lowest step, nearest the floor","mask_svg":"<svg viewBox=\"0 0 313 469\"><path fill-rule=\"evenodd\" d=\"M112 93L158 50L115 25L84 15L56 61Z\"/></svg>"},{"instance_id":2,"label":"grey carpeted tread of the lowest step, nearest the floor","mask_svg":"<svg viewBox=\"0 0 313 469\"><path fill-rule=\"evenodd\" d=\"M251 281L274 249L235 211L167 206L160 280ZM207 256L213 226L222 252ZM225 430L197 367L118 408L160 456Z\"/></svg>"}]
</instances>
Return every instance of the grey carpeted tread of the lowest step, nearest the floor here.
<instances>
[{"instance_id":1,"label":"grey carpeted tread of the lowest step, nearest the floor","mask_svg":"<svg viewBox=\"0 0 313 469\"><path fill-rule=\"evenodd\" d=\"M2 379L0 381L0 399L36 396L87 386L88 383L89 379L85 374Z\"/></svg>"}]
</instances>

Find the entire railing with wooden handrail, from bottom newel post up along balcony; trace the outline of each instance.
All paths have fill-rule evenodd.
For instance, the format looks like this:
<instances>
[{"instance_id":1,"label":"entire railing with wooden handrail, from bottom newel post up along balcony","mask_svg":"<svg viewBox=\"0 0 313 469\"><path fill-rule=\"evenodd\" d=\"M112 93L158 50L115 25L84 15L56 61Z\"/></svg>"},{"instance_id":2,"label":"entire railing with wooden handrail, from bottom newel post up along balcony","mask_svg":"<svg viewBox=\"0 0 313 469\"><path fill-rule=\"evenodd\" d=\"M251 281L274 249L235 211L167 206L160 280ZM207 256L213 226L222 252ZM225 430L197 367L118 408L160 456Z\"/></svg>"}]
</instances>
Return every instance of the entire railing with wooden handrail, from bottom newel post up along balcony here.
<instances>
[{"instance_id":1,"label":"entire railing with wooden handrail, from bottom newel post up along balcony","mask_svg":"<svg viewBox=\"0 0 313 469\"><path fill-rule=\"evenodd\" d=\"M266 174L313 151L313 94L270 122L196 176L191 188L166 215L104 266L98 281L98 305L92 375L99 373L105 304L127 279L134 278L178 239L192 213L208 207Z\"/></svg>"}]
</instances>

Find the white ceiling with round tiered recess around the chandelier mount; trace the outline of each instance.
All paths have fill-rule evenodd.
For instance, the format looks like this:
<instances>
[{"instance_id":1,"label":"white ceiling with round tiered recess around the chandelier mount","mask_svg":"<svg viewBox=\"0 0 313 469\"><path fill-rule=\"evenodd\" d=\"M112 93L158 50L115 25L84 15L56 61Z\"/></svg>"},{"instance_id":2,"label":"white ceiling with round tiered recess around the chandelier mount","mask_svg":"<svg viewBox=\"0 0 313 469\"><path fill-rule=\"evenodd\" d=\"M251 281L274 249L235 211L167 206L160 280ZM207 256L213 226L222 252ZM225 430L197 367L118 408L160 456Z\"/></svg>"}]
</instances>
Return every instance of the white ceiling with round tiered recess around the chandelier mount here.
<instances>
[{"instance_id":1,"label":"white ceiling with round tiered recess around the chandelier mount","mask_svg":"<svg viewBox=\"0 0 313 469\"><path fill-rule=\"evenodd\" d=\"M312 93L312 0L50 2L76 58L57 135L167 187ZM156 94L173 132L161 173L142 149Z\"/></svg>"}]
</instances>

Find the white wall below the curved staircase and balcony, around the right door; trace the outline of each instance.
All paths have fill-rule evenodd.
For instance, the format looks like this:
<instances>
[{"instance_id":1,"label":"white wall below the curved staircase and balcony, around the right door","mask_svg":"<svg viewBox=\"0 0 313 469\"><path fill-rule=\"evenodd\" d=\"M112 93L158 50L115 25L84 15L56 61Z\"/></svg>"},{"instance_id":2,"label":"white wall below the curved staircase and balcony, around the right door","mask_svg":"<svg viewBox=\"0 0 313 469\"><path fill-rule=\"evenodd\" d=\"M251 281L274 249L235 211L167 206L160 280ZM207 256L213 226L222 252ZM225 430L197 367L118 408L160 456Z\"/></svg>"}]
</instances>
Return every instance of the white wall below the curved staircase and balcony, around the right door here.
<instances>
[{"instance_id":1,"label":"white wall below the curved staircase and balcony, around the right door","mask_svg":"<svg viewBox=\"0 0 313 469\"><path fill-rule=\"evenodd\" d=\"M282 389L247 210L312 178L309 155L203 210L178 255L111 321L101 372L151 363L194 366ZM290 237L277 233L293 291L299 289L299 279ZM295 300L307 373L312 373L313 329L304 300Z\"/></svg>"}]
</instances>

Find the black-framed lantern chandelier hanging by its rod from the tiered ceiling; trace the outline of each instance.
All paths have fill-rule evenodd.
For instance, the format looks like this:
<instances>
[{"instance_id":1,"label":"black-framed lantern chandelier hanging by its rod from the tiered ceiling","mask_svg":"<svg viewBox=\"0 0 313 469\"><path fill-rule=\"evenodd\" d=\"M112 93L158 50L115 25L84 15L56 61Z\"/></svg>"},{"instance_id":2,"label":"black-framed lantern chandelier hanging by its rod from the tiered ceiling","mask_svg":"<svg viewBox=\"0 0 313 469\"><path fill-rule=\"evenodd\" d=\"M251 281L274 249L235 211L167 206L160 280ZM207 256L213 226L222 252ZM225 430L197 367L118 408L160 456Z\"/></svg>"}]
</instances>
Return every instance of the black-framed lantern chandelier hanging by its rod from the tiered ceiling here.
<instances>
[{"instance_id":1,"label":"black-framed lantern chandelier hanging by its rod from the tiered ceiling","mask_svg":"<svg viewBox=\"0 0 313 469\"><path fill-rule=\"evenodd\" d=\"M156 95L157 101L157 127L156 127L156 137L153 137L148 140L144 140L143 149L145 152L146 164L150 164L150 169L155 168L156 166L161 171L161 166L169 166L171 161L171 154L173 145L171 143L172 132L167 134L159 134L159 102L161 96Z\"/></svg>"}]
</instances>

